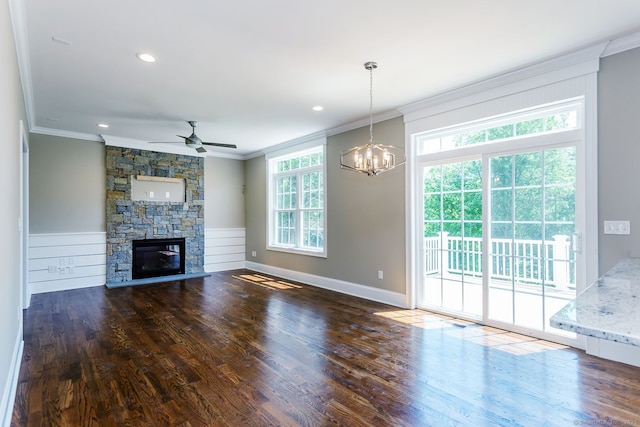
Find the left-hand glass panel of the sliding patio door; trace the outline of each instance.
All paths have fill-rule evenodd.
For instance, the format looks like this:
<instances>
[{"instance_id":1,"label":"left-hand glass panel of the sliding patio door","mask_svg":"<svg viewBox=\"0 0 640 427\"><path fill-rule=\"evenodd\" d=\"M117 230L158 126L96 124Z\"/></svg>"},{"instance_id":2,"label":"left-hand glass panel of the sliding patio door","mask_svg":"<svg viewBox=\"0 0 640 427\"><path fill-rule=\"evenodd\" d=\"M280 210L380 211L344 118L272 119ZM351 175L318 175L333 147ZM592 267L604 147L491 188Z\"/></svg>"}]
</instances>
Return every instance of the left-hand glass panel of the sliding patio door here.
<instances>
[{"instance_id":1,"label":"left-hand glass panel of the sliding patio door","mask_svg":"<svg viewBox=\"0 0 640 427\"><path fill-rule=\"evenodd\" d=\"M482 316L482 161L425 167L424 300Z\"/></svg>"}]
</instances>

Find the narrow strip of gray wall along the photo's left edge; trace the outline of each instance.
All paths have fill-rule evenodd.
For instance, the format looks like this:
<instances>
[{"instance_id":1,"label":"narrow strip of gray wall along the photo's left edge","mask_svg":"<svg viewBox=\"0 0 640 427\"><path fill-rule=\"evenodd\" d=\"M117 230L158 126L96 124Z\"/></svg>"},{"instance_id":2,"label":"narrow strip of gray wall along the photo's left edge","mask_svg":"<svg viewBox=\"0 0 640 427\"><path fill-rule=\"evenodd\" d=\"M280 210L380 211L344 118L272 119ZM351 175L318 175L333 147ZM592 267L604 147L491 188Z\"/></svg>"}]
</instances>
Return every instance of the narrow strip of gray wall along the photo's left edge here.
<instances>
[{"instance_id":1,"label":"narrow strip of gray wall along the photo's left edge","mask_svg":"<svg viewBox=\"0 0 640 427\"><path fill-rule=\"evenodd\" d=\"M21 339L20 304L20 120L26 114L20 86L15 42L8 2L0 2L0 423L4 422L4 399L11 383L11 362L16 340ZM19 362L19 361L18 361ZM17 373L17 371L16 371ZM8 408L11 410L11 408Z\"/></svg>"}]
</instances>

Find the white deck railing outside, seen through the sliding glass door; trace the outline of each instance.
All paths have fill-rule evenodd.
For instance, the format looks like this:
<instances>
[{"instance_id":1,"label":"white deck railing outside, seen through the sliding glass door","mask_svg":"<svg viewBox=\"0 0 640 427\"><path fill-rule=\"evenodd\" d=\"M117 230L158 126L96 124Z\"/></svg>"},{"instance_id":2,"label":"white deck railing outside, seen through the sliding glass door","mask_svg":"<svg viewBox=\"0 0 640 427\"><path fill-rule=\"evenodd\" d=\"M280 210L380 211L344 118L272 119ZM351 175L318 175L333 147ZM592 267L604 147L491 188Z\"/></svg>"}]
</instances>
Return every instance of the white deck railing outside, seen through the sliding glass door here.
<instances>
[{"instance_id":1,"label":"white deck railing outside, seen through the sliding glass door","mask_svg":"<svg viewBox=\"0 0 640 427\"><path fill-rule=\"evenodd\" d=\"M553 240L491 239L489 277L520 284L575 288L575 268L569 236ZM482 277L482 239L449 236L425 237L425 274Z\"/></svg>"}]
</instances>

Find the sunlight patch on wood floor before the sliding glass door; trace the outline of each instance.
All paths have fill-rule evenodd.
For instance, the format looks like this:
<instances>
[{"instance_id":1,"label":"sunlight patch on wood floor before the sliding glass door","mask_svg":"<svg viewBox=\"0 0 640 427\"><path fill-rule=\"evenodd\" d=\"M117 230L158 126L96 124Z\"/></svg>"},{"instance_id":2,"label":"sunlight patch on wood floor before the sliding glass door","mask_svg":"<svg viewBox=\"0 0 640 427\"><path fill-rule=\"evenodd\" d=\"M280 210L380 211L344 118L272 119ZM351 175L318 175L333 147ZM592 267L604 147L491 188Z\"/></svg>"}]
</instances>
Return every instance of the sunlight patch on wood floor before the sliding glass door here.
<instances>
[{"instance_id":1,"label":"sunlight patch on wood floor before the sliding glass door","mask_svg":"<svg viewBox=\"0 0 640 427\"><path fill-rule=\"evenodd\" d=\"M394 310L375 314L395 322L423 329L443 329L443 333L447 335L484 345L485 347L492 347L516 356L568 348L565 345L550 341L423 310Z\"/></svg>"}]
</instances>

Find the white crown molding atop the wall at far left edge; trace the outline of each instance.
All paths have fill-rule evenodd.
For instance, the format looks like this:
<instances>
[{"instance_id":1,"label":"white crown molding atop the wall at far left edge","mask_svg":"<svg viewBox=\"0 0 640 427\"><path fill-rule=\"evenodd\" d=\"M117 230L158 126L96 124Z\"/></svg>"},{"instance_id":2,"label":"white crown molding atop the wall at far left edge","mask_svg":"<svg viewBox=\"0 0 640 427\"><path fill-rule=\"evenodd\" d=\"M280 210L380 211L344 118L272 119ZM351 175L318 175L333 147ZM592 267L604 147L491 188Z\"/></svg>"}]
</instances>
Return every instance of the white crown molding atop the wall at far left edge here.
<instances>
[{"instance_id":1,"label":"white crown molding atop the wall at far left edge","mask_svg":"<svg viewBox=\"0 0 640 427\"><path fill-rule=\"evenodd\" d=\"M29 37L27 33L27 14L22 0L9 0L9 14L13 27L13 39L16 46L18 73L22 85L27 124L29 130L35 123L35 107L33 97L33 80L31 78L31 61L29 60Z\"/></svg>"}]
</instances>

